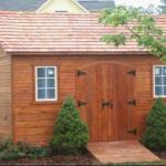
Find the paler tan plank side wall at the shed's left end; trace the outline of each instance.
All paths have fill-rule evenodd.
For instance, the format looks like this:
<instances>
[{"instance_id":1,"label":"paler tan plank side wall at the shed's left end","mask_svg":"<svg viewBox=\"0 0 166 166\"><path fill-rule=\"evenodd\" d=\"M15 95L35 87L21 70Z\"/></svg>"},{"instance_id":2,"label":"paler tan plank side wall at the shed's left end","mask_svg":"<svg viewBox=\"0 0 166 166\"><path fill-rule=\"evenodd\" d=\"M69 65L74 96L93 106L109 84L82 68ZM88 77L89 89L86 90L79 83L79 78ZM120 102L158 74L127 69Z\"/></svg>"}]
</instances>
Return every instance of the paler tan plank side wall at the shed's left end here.
<instances>
[{"instance_id":1,"label":"paler tan plank side wall at the shed's left end","mask_svg":"<svg viewBox=\"0 0 166 166\"><path fill-rule=\"evenodd\" d=\"M0 49L0 137L11 134L11 58Z\"/></svg>"}]
</instances>

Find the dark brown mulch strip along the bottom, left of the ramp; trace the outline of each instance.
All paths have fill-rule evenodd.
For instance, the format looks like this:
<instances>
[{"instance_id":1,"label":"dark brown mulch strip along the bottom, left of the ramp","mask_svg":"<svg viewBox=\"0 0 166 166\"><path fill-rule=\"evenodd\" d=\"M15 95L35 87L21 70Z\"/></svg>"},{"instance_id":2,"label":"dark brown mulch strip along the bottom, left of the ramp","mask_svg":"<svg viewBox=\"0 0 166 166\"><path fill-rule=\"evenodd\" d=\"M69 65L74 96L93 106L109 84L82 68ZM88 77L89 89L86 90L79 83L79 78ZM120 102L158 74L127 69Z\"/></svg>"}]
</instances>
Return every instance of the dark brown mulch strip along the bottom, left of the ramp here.
<instances>
[{"instance_id":1,"label":"dark brown mulch strip along the bottom, left of the ramp","mask_svg":"<svg viewBox=\"0 0 166 166\"><path fill-rule=\"evenodd\" d=\"M91 154L85 154L80 156L52 156L39 159L0 160L0 165L100 165L100 163Z\"/></svg>"}]
</instances>

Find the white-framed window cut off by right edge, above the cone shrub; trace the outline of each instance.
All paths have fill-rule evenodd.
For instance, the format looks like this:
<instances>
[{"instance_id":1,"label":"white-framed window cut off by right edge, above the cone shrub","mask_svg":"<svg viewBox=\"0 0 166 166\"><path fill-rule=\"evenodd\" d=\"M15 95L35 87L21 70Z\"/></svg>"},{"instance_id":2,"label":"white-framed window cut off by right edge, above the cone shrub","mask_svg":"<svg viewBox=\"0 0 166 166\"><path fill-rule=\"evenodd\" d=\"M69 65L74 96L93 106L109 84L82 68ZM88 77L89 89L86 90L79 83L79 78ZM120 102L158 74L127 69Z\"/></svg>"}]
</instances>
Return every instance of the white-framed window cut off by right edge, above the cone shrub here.
<instances>
[{"instance_id":1,"label":"white-framed window cut off by right edge, above the cone shrub","mask_svg":"<svg viewBox=\"0 0 166 166\"><path fill-rule=\"evenodd\" d=\"M166 97L166 65L154 66L154 96Z\"/></svg>"}]
</instances>

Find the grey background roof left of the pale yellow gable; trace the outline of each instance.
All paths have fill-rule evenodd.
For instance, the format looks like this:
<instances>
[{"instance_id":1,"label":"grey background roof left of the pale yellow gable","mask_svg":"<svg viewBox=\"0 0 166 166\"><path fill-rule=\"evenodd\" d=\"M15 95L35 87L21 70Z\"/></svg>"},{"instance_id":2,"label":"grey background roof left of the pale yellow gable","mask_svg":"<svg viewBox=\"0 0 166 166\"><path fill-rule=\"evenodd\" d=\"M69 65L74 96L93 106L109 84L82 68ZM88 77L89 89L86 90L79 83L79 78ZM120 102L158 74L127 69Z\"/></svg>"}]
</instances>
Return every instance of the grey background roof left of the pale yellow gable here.
<instances>
[{"instance_id":1,"label":"grey background roof left of the pale yellow gable","mask_svg":"<svg viewBox=\"0 0 166 166\"><path fill-rule=\"evenodd\" d=\"M35 11L46 0L0 0L0 10L4 11Z\"/></svg>"}]
</instances>

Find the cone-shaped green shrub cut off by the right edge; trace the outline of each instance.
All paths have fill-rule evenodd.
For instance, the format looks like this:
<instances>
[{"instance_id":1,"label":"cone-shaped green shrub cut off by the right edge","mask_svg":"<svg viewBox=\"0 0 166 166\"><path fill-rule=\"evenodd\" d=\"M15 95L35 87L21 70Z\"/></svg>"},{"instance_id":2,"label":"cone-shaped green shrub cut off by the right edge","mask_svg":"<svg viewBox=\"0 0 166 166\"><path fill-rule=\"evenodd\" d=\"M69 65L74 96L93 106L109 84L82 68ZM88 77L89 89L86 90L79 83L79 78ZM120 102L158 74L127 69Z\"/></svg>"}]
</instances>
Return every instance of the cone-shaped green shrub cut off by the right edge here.
<instances>
[{"instance_id":1,"label":"cone-shaped green shrub cut off by the right edge","mask_svg":"<svg viewBox=\"0 0 166 166\"><path fill-rule=\"evenodd\" d=\"M166 151L166 106L157 98L147 120L142 143L153 151Z\"/></svg>"}]
</instances>

